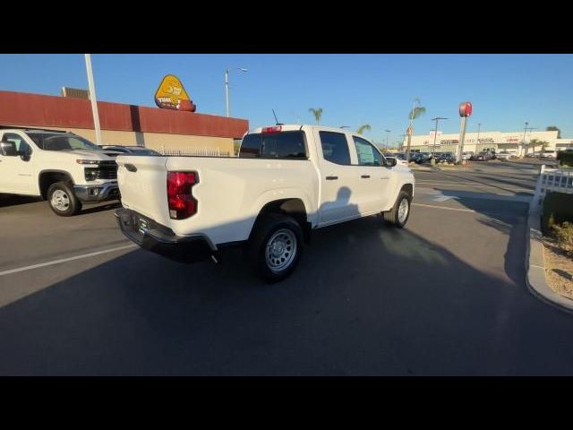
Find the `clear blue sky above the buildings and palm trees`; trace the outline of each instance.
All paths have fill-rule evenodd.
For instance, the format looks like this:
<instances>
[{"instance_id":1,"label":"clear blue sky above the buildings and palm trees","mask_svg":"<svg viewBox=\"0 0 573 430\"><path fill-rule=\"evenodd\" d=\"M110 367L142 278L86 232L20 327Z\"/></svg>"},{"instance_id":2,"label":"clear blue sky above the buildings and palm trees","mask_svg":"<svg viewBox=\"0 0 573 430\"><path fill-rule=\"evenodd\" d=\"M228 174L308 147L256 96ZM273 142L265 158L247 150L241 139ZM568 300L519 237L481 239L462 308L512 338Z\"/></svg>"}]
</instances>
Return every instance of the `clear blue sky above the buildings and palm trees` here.
<instances>
[{"instance_id":1,"label":"clear blue sky above the buildings and palm trees","mask_svg":"<svg viewBox=\"0 0 573 430\"><path fill-rule=\"evenodd\" d=\"M402 140L417 97L427 111L415 134L458 133L458 105L472 102L468 132L513 132L557 125L573 138L573 55L162 55L93 54L98 100L154 107L164 75L175 74L197 112L226 115L225 70L229 74L231 116L250 128L279 122L314 124L309 107L322 107L321 125L369 124L374 142ZM63 86L88 88L84 56L0 55L0 90L59 95Z\"/></svg>"}]
</instances>

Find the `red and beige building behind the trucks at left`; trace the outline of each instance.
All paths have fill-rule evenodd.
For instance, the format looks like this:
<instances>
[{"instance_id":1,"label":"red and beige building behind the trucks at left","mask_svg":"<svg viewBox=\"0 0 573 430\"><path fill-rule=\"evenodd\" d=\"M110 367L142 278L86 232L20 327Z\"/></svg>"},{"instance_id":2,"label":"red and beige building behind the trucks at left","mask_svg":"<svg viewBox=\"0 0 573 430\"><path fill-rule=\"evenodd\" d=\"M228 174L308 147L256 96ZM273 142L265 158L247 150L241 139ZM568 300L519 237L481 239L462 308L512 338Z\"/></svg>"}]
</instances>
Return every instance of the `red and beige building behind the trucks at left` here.
<instances>
[{"instance_id":1,"label":"red and beige building behind the trucks at left","mask_svg":"<svg viewBox=\"0 0 573 430\"><path fill-rule=\"evenodd\" d=\"M245 119L98 101L102 143L161 153L233 155ZM0 91L0 126L65 130L96 142L89 99Z\"/></svg>"}]
</instances>

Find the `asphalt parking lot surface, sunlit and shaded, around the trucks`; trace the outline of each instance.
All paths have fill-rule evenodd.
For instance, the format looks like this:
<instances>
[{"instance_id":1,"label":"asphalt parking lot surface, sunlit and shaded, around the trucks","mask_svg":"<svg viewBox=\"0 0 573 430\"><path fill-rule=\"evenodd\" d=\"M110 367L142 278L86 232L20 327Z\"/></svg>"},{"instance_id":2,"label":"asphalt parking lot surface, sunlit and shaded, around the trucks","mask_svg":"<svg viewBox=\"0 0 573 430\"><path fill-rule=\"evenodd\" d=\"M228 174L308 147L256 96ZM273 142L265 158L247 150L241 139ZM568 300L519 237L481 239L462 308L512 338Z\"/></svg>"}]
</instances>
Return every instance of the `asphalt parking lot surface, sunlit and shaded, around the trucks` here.
<instances>
[{"instance_id":1,"label":"asphalt parking lot surface, sunlit and shaded, around the trucks","mask_svg":"<svg viewBox=\"0 0 573 430\"><path fill-rule=\"evenodd\" d=\"M405 229L318 230L272 286L238 250L138 249L113 204L64 219L0 197L0 374L573 374L572 316L525 283L537 169L416 171Z\"/></svg>"}]
</instances>

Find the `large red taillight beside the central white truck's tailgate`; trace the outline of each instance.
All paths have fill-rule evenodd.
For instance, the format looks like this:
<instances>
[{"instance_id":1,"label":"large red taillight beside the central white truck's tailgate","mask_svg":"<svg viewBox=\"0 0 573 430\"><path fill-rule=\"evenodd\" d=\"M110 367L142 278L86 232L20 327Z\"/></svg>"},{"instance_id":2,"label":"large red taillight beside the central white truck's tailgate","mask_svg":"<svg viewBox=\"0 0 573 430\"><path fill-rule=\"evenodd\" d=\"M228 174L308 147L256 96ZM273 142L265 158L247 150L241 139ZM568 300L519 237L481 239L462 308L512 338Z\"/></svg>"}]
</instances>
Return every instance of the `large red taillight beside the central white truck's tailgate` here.
<instances>
[{"instance_id":1,"label":"large red taillight beside the central white truck's tailgate","mask_svg":"<svg viewBox=\"0 0 573 430\"><path fill-rule=\"evenodd\" d=\"M198 182L196 172L167 172L167 202L171 219L189 218L197 212L192 186Z\"/></svg>"}]
</instances>

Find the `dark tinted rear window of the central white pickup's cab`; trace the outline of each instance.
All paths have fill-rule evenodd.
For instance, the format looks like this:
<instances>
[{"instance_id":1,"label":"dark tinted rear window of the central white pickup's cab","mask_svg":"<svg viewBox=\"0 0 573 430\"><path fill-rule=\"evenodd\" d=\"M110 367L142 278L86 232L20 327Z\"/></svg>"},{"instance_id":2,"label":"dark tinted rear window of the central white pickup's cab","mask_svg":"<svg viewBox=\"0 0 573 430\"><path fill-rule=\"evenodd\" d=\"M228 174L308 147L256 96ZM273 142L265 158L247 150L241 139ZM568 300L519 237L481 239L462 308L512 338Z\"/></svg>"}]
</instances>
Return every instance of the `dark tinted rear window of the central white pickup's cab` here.
<instances>
[{"instance_id":1,"label":"dark tinted rear window of the central white pickup's cab","mask_svg":"<svg viewBox=\"0 0 573 430\"><path fill-rule=\"evenodd\" d=\"M247 134L241 143L239 158L306 159L303 132Z\"/></svg>"}]
</instances>

